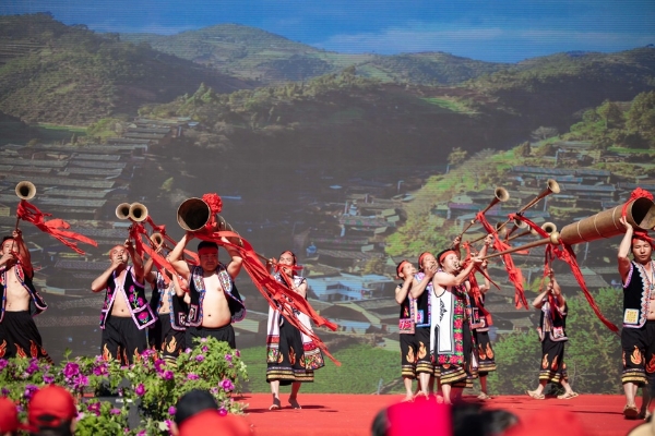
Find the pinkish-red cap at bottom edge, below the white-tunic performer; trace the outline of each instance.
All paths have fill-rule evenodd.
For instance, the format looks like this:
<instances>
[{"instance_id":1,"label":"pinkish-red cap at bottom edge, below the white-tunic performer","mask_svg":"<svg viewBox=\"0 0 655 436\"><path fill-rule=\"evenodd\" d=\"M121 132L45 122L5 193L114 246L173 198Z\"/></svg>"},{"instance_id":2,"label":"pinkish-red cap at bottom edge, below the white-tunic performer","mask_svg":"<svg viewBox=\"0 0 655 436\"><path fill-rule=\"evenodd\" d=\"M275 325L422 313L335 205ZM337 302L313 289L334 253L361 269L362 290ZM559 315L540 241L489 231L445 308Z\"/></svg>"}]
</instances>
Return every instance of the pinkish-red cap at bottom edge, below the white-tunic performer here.
<instances>
[{"instance_id":1,"label":"pinkish-red cap at bottom edge, below the white-tunic performer","mask_svg":"<svg viewBox=\"0 0 655 436\"><path fill-rule=\"evenodd\" d=\"M438 403L432 398L419 397L414 402L390 405L386 409L386 423L389 436L451 436L453 434L450 405Z\"/></svg>"}]
</instances>

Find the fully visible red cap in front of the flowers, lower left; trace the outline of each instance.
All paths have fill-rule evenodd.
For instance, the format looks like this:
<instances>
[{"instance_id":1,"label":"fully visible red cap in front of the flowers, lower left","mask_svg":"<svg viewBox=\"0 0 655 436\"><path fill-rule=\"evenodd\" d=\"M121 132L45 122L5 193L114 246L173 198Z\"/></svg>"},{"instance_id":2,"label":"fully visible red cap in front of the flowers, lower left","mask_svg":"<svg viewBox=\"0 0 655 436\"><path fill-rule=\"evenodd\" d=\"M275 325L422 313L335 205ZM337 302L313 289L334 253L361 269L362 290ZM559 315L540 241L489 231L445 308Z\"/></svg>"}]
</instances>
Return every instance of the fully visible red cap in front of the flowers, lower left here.
<instances>
[{"instance_id":1,"label":"fully visible red cap in front of the flowers, lower left","mask_svg":"<svg viewBox=\"0 0 655 436\"><path fill-rule=\"evenodd\" d=\"M52 420L43 420L50 415ZM56 427L78 416L78 408L71 392L57 385L49 385L34 393L27 405L27 423L32 427Z\"/></svg>"}]
</instances>

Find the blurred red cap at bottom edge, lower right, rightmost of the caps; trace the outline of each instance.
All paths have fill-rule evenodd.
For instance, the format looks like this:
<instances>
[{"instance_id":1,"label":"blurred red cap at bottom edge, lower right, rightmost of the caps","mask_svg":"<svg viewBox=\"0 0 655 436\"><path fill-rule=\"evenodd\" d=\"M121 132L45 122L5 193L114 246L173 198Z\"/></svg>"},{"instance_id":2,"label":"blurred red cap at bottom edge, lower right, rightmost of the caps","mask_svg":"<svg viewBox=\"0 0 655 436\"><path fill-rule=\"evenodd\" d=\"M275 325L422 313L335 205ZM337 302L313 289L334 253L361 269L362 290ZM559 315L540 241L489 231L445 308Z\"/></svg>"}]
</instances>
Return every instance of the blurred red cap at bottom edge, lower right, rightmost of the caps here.
<instances>
[{"instance_id":1,"label":"blurred red cap at bottom edge, lower right, rightmost of the caps","mask_svg":"<svg viewBox=\"0 0 655 436\"><path fill-rule=\"evenodd\" d=\"M567 436L588 435L573 412L556 407L539 409L508 428L504 435L552 436L558 432L565 433Z\"/></svg>"}]
</instances>

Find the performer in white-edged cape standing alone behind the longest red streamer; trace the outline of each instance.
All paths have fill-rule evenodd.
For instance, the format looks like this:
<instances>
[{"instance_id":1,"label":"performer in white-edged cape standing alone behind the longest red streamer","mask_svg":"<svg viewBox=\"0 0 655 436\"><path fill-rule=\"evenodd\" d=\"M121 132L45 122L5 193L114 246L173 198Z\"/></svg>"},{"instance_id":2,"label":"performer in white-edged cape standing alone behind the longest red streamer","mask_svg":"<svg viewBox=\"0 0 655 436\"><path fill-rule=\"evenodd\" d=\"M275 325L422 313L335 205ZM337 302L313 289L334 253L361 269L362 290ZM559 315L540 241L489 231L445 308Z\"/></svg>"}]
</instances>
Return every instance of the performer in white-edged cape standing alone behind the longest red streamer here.
<instances>
[{"instance_id":1,"label":"performer in white-edged cape standing alone behind the longest red streamer","mask_svg":"<svg viewBox=\"0 0 655 436\"><path fill-rule=\"evenodd\" d=\"M275 261L269 261L275 265ZM275 279L285 283L294 292L307 299L307 280L296 275L296 255L283 252L277 261L278 271ZM288 267L286 267L288 266ZM301 383L312 383L314 371L325 366L323 354L317 344L302 331L294 327L288 317L295 316L309 332L312 331L309 316L294 311L289 306L269 306L269 331L266 337L266 382L271 384L273 404L269 410L278 410L279 386L291 385L289 404L301 409L298 403L298 391Z\"/></svg>"}]
</instances>

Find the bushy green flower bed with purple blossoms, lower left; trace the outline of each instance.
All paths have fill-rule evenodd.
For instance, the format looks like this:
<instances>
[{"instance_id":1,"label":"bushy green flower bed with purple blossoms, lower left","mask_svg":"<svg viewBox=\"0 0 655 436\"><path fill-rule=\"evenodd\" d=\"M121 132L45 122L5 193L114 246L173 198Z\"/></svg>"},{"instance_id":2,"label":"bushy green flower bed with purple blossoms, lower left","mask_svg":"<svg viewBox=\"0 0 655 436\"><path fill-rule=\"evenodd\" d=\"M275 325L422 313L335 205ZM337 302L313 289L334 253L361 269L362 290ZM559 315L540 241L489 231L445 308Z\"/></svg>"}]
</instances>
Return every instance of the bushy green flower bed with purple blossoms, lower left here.
<instances>
[{"instance_id":1,"label":"bushy green flower bed with purple blossoms, lower left","mask_svg":"<svg viewBox=\"0 0 655 436\"><path fill-rule=\"evenodd\" d=\"M209 390L219 413L240 414L247 404L235 401L233 396L247 379L239 351L214 338L196 339L196 347L184 350L175 364L159 359L152 350L144 351L129 367L100 356L71 360L70 352L59 365L36 359L0 359L0 396L14 400L23 417L40 386L57 384L78 398L76 435L167 435L175 404L192 389ZM86 398L103 391L121 397L122 405ZM136 428L128 425L131 408L139 411Z\"/></svg>"}]
</instances>

